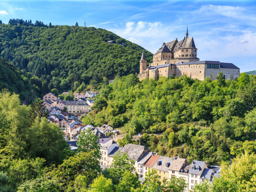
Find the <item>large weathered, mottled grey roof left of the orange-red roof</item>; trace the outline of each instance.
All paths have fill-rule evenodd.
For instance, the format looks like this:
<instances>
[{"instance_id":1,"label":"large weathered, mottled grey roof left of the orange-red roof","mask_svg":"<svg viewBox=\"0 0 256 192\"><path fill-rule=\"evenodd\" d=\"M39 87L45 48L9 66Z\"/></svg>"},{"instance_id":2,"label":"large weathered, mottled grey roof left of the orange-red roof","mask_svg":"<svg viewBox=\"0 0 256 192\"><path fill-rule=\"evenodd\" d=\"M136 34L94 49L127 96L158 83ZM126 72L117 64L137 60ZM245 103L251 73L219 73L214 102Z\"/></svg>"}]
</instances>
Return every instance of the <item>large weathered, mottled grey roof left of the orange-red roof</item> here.
<instances>
[{"instance_id":1,"label":"large weathered, mottled grey roof left of the orange-red roof","mask_svg":"<svg viewBox=\"0 0 256 192\"><path fill-rule=\"evenodd\" d=\"M135 145L135 144L127 144L121 150L122 153L127 153L129 159L137 161L141 154L143 154L144 150L149 150L145 146L142 145Z\"/></svg>"}]
</instances>

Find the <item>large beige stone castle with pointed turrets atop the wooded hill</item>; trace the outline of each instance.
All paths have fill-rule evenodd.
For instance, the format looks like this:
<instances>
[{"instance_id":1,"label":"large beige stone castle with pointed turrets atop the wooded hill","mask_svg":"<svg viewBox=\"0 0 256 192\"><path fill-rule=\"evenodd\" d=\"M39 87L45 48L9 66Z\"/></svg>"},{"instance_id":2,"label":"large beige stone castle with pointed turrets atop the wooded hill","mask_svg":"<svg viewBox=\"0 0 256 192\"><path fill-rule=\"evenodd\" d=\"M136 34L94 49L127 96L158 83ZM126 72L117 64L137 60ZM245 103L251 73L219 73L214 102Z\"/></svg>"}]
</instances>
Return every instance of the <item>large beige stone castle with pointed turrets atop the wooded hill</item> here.
<instances>
[{"instance_id":1,"label":"large beige stone castle with pointed turrets atop the wooded hill","mask_svg":"<svg viewBox=\"0 0 256 192\"><path fill-rule=\"evenodd\" d=\"M192 79L204 80L210 77L216 80L219 72L222 72L225 79L234 80L240 75L240 69L232 63L220 63L219 61L199 61L197 48L193 37L186 37L178 41L163 43L162 47L153 56L153 63L146 66L144 51L140 60L139 79L153 78L157 80L159 76L166 78L170 76L182 77L187 75Z\"/></svg>"}]
</instances>

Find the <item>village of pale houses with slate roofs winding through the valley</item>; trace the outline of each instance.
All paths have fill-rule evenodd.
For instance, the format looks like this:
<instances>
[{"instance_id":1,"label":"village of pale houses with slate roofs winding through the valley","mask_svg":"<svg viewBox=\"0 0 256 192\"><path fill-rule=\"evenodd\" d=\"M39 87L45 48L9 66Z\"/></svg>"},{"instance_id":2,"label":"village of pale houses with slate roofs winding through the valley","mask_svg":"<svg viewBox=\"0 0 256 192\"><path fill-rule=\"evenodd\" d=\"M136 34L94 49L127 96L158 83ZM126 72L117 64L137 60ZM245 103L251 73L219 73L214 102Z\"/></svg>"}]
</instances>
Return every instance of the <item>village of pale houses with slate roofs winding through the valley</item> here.
<instances>
[{"instance_id":1,"label":"village of pale houses with slate roofs winding through the valley","mask_svg":"<svg viewBox=\"0 0 256 192\"><path fill-rule=\"evenodd\" d=\"M212 182L214 177L218 177L221 167L210 166L207 161L193 160L188 163L187 158L180 156L166 157L150 151L146 146L139 144L127 144L119 146L115 137L119 130L115 130L112 125L102 125L94 127L93 125L84 125L80 120L80 115L87 115L90 108L94 105L93 98L99 92L75 93L74 101L63 101L53 93L44 96L44 105L49 111L49 122L57 124L65 132L65 140L68 142L71 150L77 150L77 140L82 131L90 130L94 135L99 137L101 159L99 164L102 170L109 168L113 162L113 156L117 152L127 153L129 159L134 160L134 168L140 177L141 183L148 171L154 168L159 179L170 180L172 177L184 179L187 182L187 188L184 191L193 191L197 183L203 182L204 179ZM63 112L64 109L66 112ZM75 117L77 116L77 117ZM140 134L137 137L140 139Z\"/></svg>"}]
</instances>

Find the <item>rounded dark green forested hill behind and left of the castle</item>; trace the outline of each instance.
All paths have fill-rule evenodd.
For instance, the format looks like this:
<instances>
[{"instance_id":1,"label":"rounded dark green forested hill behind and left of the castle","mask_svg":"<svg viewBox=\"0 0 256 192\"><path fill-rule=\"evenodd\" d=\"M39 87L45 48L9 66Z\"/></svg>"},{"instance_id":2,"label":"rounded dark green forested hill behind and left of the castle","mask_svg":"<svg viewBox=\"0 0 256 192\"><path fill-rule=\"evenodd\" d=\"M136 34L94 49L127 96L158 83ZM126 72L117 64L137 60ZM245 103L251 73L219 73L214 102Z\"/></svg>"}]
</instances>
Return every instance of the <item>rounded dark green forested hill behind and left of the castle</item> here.
<instances>
[{"instance_id":1,"label":"rounded dark green forested hill behind and left of the castle","mask_svg":"<svg viewBox=\"0 0 256 192\"><path fill-rule=\"evenodd\" d=\"M109 40L125 46L107 44ZM82 82L83 90L89 84L96 89L115 75L139 72L142 51L137 44L101 28L33 24L22 19L0 24L1 57L40 78L39 89L43 82L48 90L59 92L76 90ZM145 51L145 55L152 62L152 53ZM42 93L36 90L36 94Z\"/></svg>"}]
</instances>

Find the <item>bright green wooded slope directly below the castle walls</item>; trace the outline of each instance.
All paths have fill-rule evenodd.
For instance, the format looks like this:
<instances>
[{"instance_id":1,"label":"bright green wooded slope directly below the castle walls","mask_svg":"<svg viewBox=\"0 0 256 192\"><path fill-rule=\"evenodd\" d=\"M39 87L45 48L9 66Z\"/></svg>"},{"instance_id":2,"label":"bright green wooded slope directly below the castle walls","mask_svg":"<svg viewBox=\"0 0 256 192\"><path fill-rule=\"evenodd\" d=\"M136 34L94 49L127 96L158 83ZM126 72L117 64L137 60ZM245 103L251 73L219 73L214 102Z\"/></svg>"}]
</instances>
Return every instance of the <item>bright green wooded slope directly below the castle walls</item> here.
<instances>
[{"instance_id":1,"label":"bright green wooded slope directly below the castle walls","mask_svg":"<svg viewBox=\"0 0 256 192\"><path fill-rule=\"evenodd\" d=\"M100 90L84 123L104 123L143 135L151 151L181 155L189 161L228 163L241 151L256 152L256 76L238 80L161 77L139 82L135 75L116 77ZM128 135L121 141L131 141Z\"/></svg>"}]
</instances>

